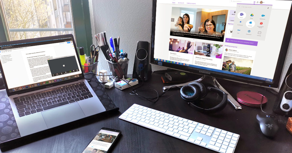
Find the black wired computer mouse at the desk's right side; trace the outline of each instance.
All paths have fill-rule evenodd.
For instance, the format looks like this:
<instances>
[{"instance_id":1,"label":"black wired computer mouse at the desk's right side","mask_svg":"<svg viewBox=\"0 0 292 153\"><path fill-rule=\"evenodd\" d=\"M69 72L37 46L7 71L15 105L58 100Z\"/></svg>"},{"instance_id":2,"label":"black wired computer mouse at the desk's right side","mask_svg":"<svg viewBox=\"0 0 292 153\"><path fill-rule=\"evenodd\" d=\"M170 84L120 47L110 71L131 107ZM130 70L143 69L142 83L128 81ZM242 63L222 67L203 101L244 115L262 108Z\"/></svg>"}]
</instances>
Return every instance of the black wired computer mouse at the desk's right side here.
<instances>
[{"instance_id":1,"label":"black wired computer mouse at the desk's right side","mask_svg":"<svg viewBox=\"0 0 292 153\"><path fill-rule=\"evenodd\" d=\"M274 137L279 129L278 120L271 115L256 115L256 119L260 125L260 130L267 137Z\"/></svg>"}]
</instances>

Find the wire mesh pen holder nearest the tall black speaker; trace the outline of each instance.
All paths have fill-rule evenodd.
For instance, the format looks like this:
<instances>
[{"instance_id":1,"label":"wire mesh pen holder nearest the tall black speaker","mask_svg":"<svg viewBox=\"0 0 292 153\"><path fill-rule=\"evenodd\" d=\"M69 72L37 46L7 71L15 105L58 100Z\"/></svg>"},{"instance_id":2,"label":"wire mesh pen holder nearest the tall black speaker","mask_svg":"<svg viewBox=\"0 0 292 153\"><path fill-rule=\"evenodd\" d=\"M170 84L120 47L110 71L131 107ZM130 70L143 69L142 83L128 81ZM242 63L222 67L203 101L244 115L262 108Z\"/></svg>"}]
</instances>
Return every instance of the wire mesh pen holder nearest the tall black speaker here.
<instances>
[{"instance_id":1,"label":"wire mesh pen holder nearest the tall black speaker","mask_svg":"<svg viewBox=\"0 0 292 153\"><path fill-rule=\"evenodd\" d=\"M109 77L114 79L116 82L118 82L121 78L123 78L123 76L127 78L128 64L129 64L129 60L121 61L119 63L113 63L107 60L107 66L109 68L110 75L119 76L119 77L116 77L116 76L109 76Z\"/></svg>"}]
</instances>

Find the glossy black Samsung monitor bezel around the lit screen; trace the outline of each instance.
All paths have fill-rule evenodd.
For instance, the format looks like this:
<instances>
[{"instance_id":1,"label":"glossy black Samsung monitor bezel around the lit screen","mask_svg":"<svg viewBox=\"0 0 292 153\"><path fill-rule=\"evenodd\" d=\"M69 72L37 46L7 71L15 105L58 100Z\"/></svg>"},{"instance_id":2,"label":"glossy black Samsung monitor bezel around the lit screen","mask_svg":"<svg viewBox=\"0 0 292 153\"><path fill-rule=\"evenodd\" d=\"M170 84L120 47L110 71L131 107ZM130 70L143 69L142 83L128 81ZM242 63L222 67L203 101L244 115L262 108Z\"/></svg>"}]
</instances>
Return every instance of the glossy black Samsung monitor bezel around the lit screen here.
<instances>
[{"instance_id":1,"label":"glossy black Samsung monitor bezel around the lit screen","mask_svg":"<svg viewBox=\"0 0 292 153\"><path fill-rule=\"evenodd\" d=\"M157 0L152 1L152 27L151 27L151 45L150 45L150 63L158 65L158 61L154 60L154 41L155 41L155 21L156 21L156 6L157 6ZM210 70L205 70L201 68L193 68L193 67L188 67L188 66L183 66L179 64L173 64L173 63L168 63L164 61L159 61L162 62L163 67L167 68L173 68L176 70L180 71L186 71L190 73L195 73L199 75L207 75L215 78L220 78L220 79L225 79L225 80L231 80L235 82L241 82L241 83L247 83L251 85L257 85L257 86L264 86L264 87L271 87L271 88L278 88L282 76L282 72L284 69L284 63L285 59L287 56L288 52L288 47L290 44L290 39L291 39L291 34L292 34L292 5L290 8L287 24L286 24L286 29L285 29L285 34L283 36L283 41L281 44L281 49L279 52L279 57L277 61L277 68L274 73L274 78L272 82L267 82L264 80L259 80L259 79L253 79L253 78L248 78L248 77L243 77L243 76L238 76L238 75L230 75L226 73L221 73L221 72L215 72L215 71L210 71ZM168 47L167 47L168 48ZM161 65L159 65L161 66ZM196 78L194 78L195 80Z\"/></svg>"}]
</instances>

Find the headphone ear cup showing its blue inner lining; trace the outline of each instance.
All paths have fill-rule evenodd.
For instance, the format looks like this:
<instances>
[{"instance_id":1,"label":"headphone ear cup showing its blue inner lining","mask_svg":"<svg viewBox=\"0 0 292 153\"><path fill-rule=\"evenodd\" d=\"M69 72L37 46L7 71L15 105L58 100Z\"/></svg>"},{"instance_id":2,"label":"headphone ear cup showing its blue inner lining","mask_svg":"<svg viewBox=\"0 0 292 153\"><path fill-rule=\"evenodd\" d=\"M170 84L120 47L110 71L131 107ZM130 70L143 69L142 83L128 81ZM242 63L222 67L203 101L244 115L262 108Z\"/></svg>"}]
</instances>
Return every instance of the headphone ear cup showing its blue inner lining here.
<instances>
[{"instance_id":1,"label":"headphone ear cup showing its blue inner lining","mask_svg":"<svg viewBox=\"0 0 292 153\"><path fill-rule=\"evenodd\" d=\"M187 101L195 101L200 96L200 89L194 85L185 85L180 89L180 96Z\"/></svg>"}]
</instances>

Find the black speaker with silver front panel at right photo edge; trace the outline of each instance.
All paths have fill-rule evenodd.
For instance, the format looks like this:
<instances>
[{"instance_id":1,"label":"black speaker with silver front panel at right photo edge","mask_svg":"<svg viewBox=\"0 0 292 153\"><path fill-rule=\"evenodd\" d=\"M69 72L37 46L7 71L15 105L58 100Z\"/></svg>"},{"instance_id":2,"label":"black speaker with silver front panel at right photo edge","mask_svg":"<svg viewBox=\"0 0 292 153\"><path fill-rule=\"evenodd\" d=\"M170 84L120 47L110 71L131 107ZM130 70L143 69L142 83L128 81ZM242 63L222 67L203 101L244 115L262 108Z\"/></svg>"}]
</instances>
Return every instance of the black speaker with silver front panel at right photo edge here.
<instances>
[{"instance_id":1,"label":"black speaker with silver front panel at right photo edge","mask_svg":"<svg viewBox=\"0 0 292 153\"><path fill-rule=\"evenodd\" d=\"M273 111L284 116L292 116L292 64L288 68Z\"/></svg>"}]
</instances>

